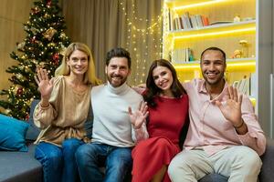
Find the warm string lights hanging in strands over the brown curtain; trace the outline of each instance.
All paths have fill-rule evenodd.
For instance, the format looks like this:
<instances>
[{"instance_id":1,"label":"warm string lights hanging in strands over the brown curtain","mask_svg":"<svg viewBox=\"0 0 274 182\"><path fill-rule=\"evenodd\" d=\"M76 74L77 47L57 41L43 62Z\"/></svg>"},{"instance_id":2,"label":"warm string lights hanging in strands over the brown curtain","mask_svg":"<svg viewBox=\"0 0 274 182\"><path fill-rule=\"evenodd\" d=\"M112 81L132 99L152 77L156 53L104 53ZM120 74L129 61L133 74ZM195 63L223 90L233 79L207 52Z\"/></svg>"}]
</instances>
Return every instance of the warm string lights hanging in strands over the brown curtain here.
<instances>
[{"instance_id":1,"label":"warm string lights hanging in strands over the brown curtain","mask_svg":"<svg viewBox=\"0 0 274 182\"><path fill-rule=\"evenodd\" d=\"M125 16L126 25L127 25L127 41L126 46L127 49L130 49L132 51L132 55L136 56L136 67L133 69L136 71L136 74L133 79L133 84L138 85L145 82L145 76L147 72L147 61L149 56L152 54L155 54L156 57L161 56L162 51L162 20L163 20L163 11L161 12L161 15L158 15L156 19L147 19L142 18L136 15L136 8L135 8L135 2L132 0L131 2L131 14L127 14L127 9L125 7L124 3L120 3L121 11L123 15ZM143 28L139 27L138 25L135 25L135 22L138 22L140 25L148 25L149 26ZM151 23L150 23L151 22ZM155 38L152 39L153 46L148 46L149 42L147 41L148 36L150 35L159 35L161 38L156 41ZM157 42L160 42L160 45L156 45ZM138 45L142 45L141 47ZM159 51L151 51L152 48L157 49L160 47Z\"/></svg>"}]
</instances>

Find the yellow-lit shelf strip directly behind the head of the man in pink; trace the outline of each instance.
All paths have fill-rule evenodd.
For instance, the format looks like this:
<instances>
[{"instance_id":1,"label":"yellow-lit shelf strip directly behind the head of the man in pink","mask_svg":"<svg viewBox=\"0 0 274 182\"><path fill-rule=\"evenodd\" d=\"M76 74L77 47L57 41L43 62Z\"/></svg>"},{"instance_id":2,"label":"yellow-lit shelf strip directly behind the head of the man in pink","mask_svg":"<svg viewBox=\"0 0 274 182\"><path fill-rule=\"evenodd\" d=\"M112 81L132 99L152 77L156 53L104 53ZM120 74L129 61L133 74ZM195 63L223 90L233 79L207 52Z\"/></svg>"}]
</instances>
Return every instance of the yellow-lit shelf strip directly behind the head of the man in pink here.
<instances>
[{"instance_id":1,"label":"yellow-lit shelf strip directly behind the head of the man in pink","mask_svg":"<svg viewBox=\"0 0 274 182\"><path fill-rule=\"evenodd\" d=\"M185 62L182 64L173 64L175 69L178 70L200 70L200 61ZM238 58L227 59L227 72L248 71L254 73L256 69L256 58Z\"/></svg>"}]
</instances>

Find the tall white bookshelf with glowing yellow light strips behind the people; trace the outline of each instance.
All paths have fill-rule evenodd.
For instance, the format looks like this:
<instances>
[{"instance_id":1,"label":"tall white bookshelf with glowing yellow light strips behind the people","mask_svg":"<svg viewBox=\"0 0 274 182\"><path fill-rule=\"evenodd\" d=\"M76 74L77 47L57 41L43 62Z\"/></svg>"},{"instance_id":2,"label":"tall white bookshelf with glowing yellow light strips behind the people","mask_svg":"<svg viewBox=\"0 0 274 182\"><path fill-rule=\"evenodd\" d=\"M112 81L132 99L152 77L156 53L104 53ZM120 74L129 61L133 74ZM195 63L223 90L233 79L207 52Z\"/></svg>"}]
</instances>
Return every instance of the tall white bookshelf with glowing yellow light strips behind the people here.
<instances>
[{"instance_id":1,"label":"tall white bookshelf with glowing yellow light strips behind the people","mask_svg":"<svg viewBox=\"0 0 274 182\"><path fill-rule=\"evenodd\" d=\"M248 78L248 86L240 89L250 95L253 106L258 105L258 17L257 0L164 0L163 58L174 60L174 68L180 81L202 78L200 54L205 48L220 47L227 54L225 78L228 83L237 83ZM195 24L199 17L208 18L210 25ZM240 22L234 22L236 15ZM185 25L185 16L194 22L195 28ZM195 16L195 19L193 17ZM181 19L178 19L181 18ZM184 22L183 22L184 20ZM188 19L186 19L188 21ZM193 21L192 21L193 20ZM182 26L181 24L184 23ZM198 26L198 27L197 27ZM172 31L170 31L172 29ZM176 30L174 30L176 29ZM240 44L245 41L247 44ZM190 51L188 51L190 50ZM188 51L188 52L185 52ZM248 58L228 58L242 51ZM187 56L195 58L192 62ZM177 64L175 64L177 63Z\"/></svg>"}]
</instances>

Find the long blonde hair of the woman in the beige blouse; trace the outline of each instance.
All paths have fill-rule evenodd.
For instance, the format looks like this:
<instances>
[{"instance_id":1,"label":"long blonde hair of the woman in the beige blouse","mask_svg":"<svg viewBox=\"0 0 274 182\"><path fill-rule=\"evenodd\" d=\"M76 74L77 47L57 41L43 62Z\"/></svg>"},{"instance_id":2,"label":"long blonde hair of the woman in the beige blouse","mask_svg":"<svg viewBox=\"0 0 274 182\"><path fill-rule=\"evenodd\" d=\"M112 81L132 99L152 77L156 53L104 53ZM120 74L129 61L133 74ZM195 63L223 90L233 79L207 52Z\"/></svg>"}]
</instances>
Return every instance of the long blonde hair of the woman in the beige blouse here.
<instances>
[{"instance_id":1,"label":"long blonde hair of the woman in the beige blouse","mask_svg":"<svg viewBox=\"0 0 274 182\"><path fill-rule=\"evenodd\" d=\"M90 48L88 45L83 43L71 43L68 45L65 56L62 59L62 63L55 71L55 76L69 76L70 69L67 65L67 60L75 50L79 50L88 56L89 67L88 71L84 74L84 84L91 84L92 86L100 85L101 81L96 77L94 61L90 52Z\"/></svg>"}]
</instances>

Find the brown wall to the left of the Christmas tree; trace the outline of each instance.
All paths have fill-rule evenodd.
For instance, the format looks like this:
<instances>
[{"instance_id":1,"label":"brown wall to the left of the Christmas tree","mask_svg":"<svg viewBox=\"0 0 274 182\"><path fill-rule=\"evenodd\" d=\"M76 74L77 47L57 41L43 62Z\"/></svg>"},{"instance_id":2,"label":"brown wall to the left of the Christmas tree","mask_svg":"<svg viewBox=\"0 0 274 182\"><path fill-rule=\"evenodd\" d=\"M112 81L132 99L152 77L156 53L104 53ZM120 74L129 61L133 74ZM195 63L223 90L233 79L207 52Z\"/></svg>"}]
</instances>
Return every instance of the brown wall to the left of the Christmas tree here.
<instances>
[{"instance_id":1,"label":"brown wall to the left of the Christmas tree","mask_svg":"<svg viewBox=\"0 0 274 182\"><path fill-rule=\"evenodd\" d=\"M0 5L0 89L8 88L11 76L5 70L16 64L9 54L16 50L16 42L26 37L24 23L34 0L1 0Z\"/></svg>"}]
</instances>

